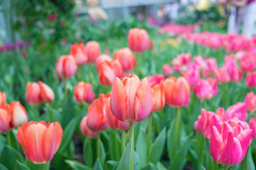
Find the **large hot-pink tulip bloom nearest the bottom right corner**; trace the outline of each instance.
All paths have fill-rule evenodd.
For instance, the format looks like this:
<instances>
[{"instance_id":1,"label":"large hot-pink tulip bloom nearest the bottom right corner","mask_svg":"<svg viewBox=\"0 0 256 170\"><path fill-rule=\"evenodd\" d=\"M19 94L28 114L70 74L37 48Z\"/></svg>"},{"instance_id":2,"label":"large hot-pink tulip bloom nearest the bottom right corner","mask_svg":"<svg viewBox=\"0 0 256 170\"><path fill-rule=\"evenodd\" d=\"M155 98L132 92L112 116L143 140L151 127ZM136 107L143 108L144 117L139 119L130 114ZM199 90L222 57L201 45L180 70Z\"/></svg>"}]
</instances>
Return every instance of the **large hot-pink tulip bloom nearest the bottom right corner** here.
<instances>
[{"instance_id":1,"label":"large hot-pink tulip bloom nearest the bottom right corner","mask_svg":"<svg viewBox=\"0 0 256 170\"><path fill-rule=\"evenodd\" d=\"M244 159L252 141L252 130L240 120L228 120L220 125L220 131L213 125L210 137L210 154L217 164L235 165Z\"/></svg>"}]
</instances>

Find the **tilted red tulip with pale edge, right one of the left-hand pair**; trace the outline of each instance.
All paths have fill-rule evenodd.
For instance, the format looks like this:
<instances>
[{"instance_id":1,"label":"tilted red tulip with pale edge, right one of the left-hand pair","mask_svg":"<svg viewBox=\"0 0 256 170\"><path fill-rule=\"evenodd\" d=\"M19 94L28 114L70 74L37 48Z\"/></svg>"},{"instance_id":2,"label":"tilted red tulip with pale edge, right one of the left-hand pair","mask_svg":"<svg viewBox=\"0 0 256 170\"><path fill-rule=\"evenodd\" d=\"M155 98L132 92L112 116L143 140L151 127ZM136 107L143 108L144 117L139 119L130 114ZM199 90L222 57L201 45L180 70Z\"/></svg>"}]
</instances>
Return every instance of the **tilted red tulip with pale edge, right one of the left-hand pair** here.
<instances>
[{"instance_id":1,"label":"tilted red tulip with pale edge, right one of the left-hand pair","mask_svg":"<svg viewBox=\"0 0 256 170\"><path fill-rule=\"evenodd\" d=\"M52 89L47 84L44 84L42 81L38 81L38 85L41 90L41 98L43 103L53 102L55 95Z\"/></svg>"}]
</instances>

